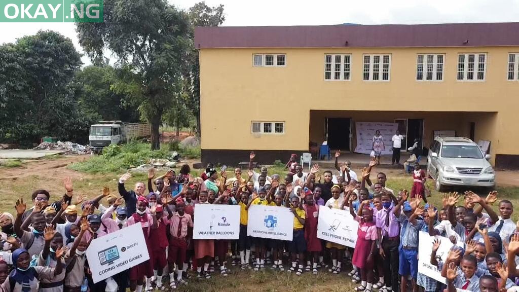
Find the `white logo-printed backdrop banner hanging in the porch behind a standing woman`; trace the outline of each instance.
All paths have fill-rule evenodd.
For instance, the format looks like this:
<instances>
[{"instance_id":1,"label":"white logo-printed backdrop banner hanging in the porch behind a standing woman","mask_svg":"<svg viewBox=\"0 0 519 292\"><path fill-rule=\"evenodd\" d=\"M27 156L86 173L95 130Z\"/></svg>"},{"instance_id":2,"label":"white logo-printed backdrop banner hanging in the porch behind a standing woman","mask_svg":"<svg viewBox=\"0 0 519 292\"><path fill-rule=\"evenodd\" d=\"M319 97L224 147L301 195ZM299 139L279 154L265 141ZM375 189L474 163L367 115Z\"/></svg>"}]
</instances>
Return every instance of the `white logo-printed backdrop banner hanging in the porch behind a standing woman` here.
<instances>
[{"instance_id":1,"label":"white logo-printed backdrop banner hanging in the porch behind a standing woman","mask_svg":"<svg viewBox=\"0 0 519 292\"><path fill-rule=\"evenodd\" d=\"M384 137L384 145L386 147L382 154L392 154L391 137L397 132L397 129L397 123L355 122L355 130L357 132L355 152L370 154L371 150L373 150L373 136L375 136L375 131L379 130L380 135Z\"/></svg>"}]
</instances>

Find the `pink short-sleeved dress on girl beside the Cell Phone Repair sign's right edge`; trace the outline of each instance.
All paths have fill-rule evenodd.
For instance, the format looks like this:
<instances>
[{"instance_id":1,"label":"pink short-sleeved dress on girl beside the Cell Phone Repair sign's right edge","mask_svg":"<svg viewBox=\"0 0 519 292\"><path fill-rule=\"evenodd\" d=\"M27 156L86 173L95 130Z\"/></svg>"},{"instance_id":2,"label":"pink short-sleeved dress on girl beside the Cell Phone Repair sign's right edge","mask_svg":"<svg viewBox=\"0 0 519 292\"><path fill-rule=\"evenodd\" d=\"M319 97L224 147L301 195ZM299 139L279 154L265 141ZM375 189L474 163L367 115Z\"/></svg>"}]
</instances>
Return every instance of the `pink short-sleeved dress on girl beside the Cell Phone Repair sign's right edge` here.
<instances>
[{"instance_id":1,"label":"pink short-sleeved dress on girl beside the Cell Phone Repair sign's right edge","mask_svg":"<svg viewBox=\"0 0 519 292\"><path fill-rule=\"evenodd\" d=\"M377 227L373 221L364 222L361 216L356 216L355 220L359 221L359 229L351 263L360 269L371 269L373 268L373 256L370 262L367 262L366 259L370 255L372 242L377 239Z\"/></svg>"}]
</instances>

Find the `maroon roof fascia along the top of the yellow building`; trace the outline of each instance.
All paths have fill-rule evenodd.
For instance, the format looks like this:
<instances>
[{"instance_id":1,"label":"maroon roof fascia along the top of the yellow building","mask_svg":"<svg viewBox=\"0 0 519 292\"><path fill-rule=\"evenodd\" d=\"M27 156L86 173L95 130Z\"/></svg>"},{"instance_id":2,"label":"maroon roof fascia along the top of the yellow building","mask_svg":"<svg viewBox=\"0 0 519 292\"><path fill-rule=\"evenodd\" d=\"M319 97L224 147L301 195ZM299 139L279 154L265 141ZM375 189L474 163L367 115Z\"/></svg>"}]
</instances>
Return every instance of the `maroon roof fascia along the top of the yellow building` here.
<instances>
[{"instance_id":1,"label":"maroon roof fascia along the top of the yellow building","mask_svg":"<svg viewBox=\"0 0 519 292\"><path fill-rule=\"evenodd\" d=\"M467 40L468 43L464 44ZM199 26L195 29L195 46L197 48L519 46L519 22Z\"/></svg>"}]
</instances>

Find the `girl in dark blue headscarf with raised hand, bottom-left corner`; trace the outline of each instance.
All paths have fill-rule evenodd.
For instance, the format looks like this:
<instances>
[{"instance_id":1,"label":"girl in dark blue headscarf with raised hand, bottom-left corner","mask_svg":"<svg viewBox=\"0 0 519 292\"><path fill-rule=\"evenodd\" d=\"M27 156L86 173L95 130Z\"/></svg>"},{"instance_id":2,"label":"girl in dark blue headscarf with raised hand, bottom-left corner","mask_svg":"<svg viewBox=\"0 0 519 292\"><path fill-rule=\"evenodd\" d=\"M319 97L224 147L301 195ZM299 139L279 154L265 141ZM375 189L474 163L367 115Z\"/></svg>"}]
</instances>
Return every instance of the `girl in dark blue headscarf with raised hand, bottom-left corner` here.
<instances>
[{"instance_id":1,"label":"girl in dark blue headscarf with raised hand, bottom-left corner","mask_svg":"<svg viewBox=\"0 0 519 292\"><path fill-rule=\"evenodd\" d=\"M13 292L31 292L37 291L39 280L52 280L55 276L63 271L61 257L64 249L56 250L56 258L58 263L55 268L50 267L31 267L31 257L26 249L18 248L12 253L12 264L15 269L9 273L9 276L2 284L4 291Z\"/></svg>"}]
</instances>

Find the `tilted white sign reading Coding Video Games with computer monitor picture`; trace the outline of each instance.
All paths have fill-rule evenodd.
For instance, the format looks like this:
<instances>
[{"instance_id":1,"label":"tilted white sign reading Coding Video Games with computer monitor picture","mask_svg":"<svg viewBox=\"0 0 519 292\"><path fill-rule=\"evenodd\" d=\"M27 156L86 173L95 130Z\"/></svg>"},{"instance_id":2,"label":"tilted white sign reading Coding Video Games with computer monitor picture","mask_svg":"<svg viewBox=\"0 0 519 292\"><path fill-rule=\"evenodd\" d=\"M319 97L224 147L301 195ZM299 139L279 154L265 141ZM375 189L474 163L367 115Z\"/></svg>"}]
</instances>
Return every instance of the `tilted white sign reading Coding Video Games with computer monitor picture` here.
<instances>
[{"instance_id":1,"label":"tilted white sign reading Coding Video Games with computer monitor picture","mask_svg":"<svg viewBox=\"0 0 519 292\"><path fill-rule=\"evenodd\" d=\"M94 283L149 259L141 224L95 238L87 249Z\"/></svg>"}]
</instances>

